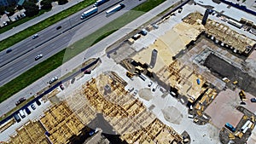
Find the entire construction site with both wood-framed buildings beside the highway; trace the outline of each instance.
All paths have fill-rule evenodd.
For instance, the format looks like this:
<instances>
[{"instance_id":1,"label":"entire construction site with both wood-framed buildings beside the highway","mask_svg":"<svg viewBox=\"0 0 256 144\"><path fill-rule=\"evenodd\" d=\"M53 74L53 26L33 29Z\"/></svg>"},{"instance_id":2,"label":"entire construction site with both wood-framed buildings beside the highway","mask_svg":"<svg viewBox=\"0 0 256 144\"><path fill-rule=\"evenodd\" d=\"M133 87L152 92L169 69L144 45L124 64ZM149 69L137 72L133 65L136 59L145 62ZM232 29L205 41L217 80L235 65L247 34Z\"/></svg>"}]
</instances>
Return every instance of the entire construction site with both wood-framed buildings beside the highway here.
<instances>
[{"instance_id":1,"label":"entire construction site with both wood-framed buildings beside the highway","mask_svg":"<svg viewBox=\"0 0 256 144\"><path fill-rule=\"evenodd\" d=\"M155 113L159 106L152 100L167 97L181 103L191 124L218 130L222 143L245 143L255 125L256 108L248 100L256 96L256 67L246 62L254 52L255 39L199 12L184 15L178 23L172 21L174 16L144 26L148 35L133 39L133 32L110 46L106 57L125 69L101 70L80 83L81 87L67 88L70 91L64 97L55 89L46 98L53 106L16 129L8 142L81 143L92 141L90 137L99 128L98 141L107 137L112 143L190 143L189 133L184 136L181 133L185 132L171 127L188 124L180 108L168 105L160 110L160 117ZM78 77L65 87L72 87L84 75ZM125 90L129 82L139 82L135 77L150 84L143 89L134 84ZM158 88L160 96L156 95ZM136 94L131 93L133 89Z\"/></svg>"}]
</instances>

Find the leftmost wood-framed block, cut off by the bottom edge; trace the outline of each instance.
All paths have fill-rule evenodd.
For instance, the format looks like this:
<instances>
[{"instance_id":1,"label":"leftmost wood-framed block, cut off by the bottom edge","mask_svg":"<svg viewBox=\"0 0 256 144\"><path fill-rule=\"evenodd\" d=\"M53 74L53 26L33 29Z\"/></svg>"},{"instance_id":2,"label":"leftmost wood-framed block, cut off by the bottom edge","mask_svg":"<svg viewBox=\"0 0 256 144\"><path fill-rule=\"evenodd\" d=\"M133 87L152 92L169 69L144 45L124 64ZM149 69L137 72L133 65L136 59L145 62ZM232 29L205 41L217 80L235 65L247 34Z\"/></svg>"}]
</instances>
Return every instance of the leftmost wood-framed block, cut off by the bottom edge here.
<instances>
[{"instance_id":1,"label":"leftmost wood-framed block, cut off by the bottom edge","mask_svg":"<svg viewBox=\"0 0 256 144\"><path fill-rule=\"evenodd\" d=\"M13 144L49 144L50 141L44 135L46 130L44 126L38 121L28 121L20 128L16 129L15 135L11 135L7 143Z\"/></svg>"}]
</instances>

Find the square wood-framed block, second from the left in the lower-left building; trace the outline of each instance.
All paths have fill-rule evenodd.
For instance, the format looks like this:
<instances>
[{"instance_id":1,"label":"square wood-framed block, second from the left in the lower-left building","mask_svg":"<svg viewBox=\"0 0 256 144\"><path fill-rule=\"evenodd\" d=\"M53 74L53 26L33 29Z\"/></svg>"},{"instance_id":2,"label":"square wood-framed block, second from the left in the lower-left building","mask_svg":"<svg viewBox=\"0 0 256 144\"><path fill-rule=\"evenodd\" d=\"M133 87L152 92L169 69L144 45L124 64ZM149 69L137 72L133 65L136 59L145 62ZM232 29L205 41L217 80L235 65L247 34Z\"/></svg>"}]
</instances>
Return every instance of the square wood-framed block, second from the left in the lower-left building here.
<instances>
[{"instance_id":1,"label":"square wood-framed block, second from the left in the lower-left building","mask_svg":"<svg viewBox=\"0 0 256 144\"><path fill-rule=\"evenodd\" d=\"M82 133L84 124L65 102L61 102L44 112L40 118L46 135L52 143L69 143ZM42 134L41 134L42 135Z\"/></svg>"}]
</instances>

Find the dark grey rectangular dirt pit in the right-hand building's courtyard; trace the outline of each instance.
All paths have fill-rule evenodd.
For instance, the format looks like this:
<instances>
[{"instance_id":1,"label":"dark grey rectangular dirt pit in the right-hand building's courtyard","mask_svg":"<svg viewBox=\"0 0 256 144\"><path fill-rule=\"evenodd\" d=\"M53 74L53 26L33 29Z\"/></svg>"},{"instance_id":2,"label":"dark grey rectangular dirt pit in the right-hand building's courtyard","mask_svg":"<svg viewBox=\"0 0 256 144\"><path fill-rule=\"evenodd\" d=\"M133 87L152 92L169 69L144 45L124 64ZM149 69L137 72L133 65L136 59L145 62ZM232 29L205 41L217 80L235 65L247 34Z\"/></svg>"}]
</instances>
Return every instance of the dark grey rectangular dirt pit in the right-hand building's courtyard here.
<instances>
[{"instance_id":1,"label":"dark grey rectangular dirt pit in the right-hand building's courtyard","mask_svg":"<svg viewBox=\"0 0 256 144\"><path fill-rule=\"evenodd\" d=\"M211 72L222 78L229 78L231 82L238 81L238 87L245 90L246 92L256 95L256 79L249 76L247 73L242 72L235 66L230 65L218 58L216 55L209 55L204 63Z\"/></svg>"}]
</instances>

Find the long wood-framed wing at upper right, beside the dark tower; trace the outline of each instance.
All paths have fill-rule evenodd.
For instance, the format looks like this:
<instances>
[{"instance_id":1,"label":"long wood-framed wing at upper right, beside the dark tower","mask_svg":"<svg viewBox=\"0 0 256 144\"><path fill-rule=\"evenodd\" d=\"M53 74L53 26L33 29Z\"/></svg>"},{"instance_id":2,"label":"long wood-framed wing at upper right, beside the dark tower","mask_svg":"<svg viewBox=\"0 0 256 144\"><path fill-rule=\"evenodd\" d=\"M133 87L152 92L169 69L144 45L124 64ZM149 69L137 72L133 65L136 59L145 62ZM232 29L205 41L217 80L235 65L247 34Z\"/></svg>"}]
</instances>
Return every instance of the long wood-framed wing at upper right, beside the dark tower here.
<instances>
[{"instance_id":1,"label":"long wood-framed wing at upper right, beside the dark tower","mask_svg":"<svg viewBox=\"0 0 256 144\"><path fill-rule=\"evenodd\" d=\"M200 13L191 13L183 21L193 25L197 20L202 19L203 16ZM249 55L256 46L255 40L230 29L229 26L218 21L208 19L205 30L202 32L205 32L207 37L211 38L214 43L231 49L236 54Z\"/></svg>"}]
</instances>

